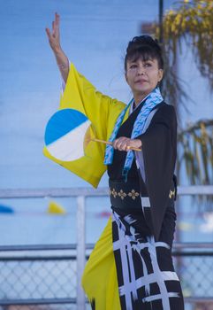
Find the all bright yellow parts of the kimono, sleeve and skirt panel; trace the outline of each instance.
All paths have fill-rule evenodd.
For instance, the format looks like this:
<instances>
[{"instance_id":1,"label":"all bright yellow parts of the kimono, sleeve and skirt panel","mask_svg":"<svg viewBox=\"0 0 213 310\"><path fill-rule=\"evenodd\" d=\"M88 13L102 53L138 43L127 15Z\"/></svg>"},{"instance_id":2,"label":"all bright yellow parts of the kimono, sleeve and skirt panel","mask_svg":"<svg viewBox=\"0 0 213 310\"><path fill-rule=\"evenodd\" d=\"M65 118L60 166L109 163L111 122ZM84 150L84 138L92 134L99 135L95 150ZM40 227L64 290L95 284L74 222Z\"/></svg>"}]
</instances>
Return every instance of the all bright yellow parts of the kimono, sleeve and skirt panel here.
<instances>
[{"instance_id":1,"label":"all bright yellow parts of the kimono, sleeve and skirt panel","mask_svg":"<svg viewBox=\"0 0 213 310\"><path fill-rule=\"evenodd\" d=\"M87 79L78 73L71 65L65 92L60 100L59 109L72 108L87 115L93 124L95 137L108 140L114 128L119 113L126 107L117 99L111 99L98 92ZM129 111L126 111L126 120ZM79 175L82 179L97 187L106 166L103 164L105 145L103 143L89 143L87 154L72 162L63 162L53 158L46 147L43 153L49 159ZM95 298L96 310L119 310L118 281L116 265L112 248L111 220L108 221L103 234L95 244L84 275L82 286L87 298Z\"/></svg>"}]
</instances>

